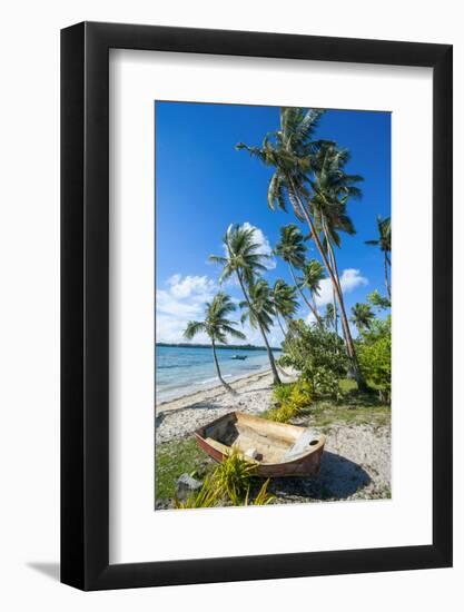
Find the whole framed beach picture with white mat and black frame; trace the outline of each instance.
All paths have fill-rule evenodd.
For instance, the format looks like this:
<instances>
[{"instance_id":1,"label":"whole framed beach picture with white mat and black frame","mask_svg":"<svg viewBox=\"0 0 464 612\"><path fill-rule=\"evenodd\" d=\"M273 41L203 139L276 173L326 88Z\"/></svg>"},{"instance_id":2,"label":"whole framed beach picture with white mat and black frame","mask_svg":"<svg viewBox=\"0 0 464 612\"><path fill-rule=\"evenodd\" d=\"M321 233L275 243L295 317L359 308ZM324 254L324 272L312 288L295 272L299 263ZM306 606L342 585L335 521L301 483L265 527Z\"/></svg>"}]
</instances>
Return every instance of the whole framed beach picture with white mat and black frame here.
<instances>
[{"instance_id":1,"label":"whole framed beach picture with white mat and black frame","mask_svg":"<svg viewBox=\"0 0 464 612\"><path fill-rule=\"evenodd\" d=\"M61 581L452 565L452 47L61 32Z\"/></svg>"}]
</instances>

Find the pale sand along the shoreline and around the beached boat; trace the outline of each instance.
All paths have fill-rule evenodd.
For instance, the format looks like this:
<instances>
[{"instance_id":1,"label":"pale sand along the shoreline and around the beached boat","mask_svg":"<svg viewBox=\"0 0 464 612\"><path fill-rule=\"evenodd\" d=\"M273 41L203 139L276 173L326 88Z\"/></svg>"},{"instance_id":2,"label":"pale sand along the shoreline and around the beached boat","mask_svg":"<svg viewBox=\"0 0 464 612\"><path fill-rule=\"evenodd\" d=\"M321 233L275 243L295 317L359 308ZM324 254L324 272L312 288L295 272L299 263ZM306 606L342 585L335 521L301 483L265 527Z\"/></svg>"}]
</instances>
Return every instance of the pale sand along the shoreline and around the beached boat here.
<instances>
[{"instance_id":1,"label":"pale sand along the shoreline and around the beached boat","mask_svg":"<svg viewBox=\"0 0 464 612\"><path fill-rule=\"evenodd\" d=\"M283 376L284 382L294 376ZM216 386L165 402L157 408L157 444L191 436L194 431L231 411L259 414L272 406L270 371L243 377L231 385L237 395ZM297 424L298 421L295 421ZM302 425L305 425L302 419ZM330 423L315 427L326 435L316 478L277 478L272 490L278 503L388 497L391 492L389 424Z\"/></svg>"}]
</instances>

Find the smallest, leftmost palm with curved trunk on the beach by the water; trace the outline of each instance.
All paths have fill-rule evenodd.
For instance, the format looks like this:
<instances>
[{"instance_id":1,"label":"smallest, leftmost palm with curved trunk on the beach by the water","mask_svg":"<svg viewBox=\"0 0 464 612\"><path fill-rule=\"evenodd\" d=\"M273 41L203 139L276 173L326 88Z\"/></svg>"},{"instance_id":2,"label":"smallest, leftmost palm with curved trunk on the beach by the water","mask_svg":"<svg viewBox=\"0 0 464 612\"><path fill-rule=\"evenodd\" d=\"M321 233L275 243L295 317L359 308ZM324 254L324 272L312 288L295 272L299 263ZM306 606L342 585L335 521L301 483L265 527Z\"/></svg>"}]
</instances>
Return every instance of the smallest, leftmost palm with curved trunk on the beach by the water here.
<instances>
[{"instance_id":1,"label":"smallest, leftmost palm with curved trunk on the beach by the water","mask_svg":"<svg viewBox=\"0 0 464 612\"><path fill-rule=\"evenodd\" d=\"M213 357L216 366L217 377L223 386L230 393L234 389L223 378L219 368L219 362L216 355L216 343L227 344L227 336L233 338L245 339L245 334L235 329L237 325L235 320L229 320L227 315L236 309L230 297L225 293L218 293L213 298L213 302L206 304L205 320L190 320L184 332L184 337L191 340L197 334L204 332L211 340Z\"/></svg>"}]
</instances>

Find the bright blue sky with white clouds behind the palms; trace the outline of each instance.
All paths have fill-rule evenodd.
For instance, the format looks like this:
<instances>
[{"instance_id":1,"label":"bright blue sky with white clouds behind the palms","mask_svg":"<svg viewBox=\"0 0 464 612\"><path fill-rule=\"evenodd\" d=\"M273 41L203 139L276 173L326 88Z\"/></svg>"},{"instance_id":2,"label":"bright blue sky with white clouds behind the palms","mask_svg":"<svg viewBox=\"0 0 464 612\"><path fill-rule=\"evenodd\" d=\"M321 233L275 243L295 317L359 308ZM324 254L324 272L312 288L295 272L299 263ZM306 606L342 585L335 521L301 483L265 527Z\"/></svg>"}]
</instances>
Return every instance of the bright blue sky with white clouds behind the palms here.
<instances>
[{"instance_id":1,"label":"bright blue sky with white clouds behind the palms","mask_svg":"<svg viewBox=\"0 0 464 612\"><path fill-rule=\"evenodd\" d=\"M278 240L279 227L295 223L295 217L269 210L266 191L272 170L234 148L239 141L259 145L267 131L277 129L277 107L157 101L155 113L157 340L184 342L186 323L201 318L205 302L219 288L220 270L208 263L208 255L223 255L221 237L227 227L248 223L258 228L266 250ZM348 205L356 234L344 235L337 251L349 309L375 288L385 293L381 254L364 241L376 237L376 216L391 214L391 115L327 110L316 137L348 148L347 171L364 177L363 198ZM302 229L306 231L305 226ZM308 247L307 256L318 258L316 249ZM279 277L292 282L282 260L270 267L265 275L270 284ZM233 298L241 298L234 283L224 289ZM329 296L327 280L319 300L322 310ZM307 314L302 306L299 316L306 318ZM249 342L261 344L259 333L248 326L244 330ZM270 339L279 344L277 327ZM196 342L207 338L198 336Z\"/></svg>"}]
</instances>

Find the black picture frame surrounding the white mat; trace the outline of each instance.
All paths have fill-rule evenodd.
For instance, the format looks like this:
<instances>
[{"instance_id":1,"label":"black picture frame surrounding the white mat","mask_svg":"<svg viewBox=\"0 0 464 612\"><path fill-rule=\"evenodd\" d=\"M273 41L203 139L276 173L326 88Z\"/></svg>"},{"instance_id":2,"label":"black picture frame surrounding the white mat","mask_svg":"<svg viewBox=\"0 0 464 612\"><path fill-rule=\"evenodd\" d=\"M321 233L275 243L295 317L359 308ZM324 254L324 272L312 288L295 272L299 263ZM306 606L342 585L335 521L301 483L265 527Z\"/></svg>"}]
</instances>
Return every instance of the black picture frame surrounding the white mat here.
<instances>
[{"instance_id":1,"label":"black picture frame surrounding the white mat","mask_svg":"<svg viewBox=\"0 0 464 612\"><path fill-rule=\"evenodd\" d=\"M433 543L109 564L109 49L433 69ZM61 31L61 582L82 590L452 565L452 46L82 22ZM418 144L419 146L419 144Z\"/></svg>"}]
</instances>

